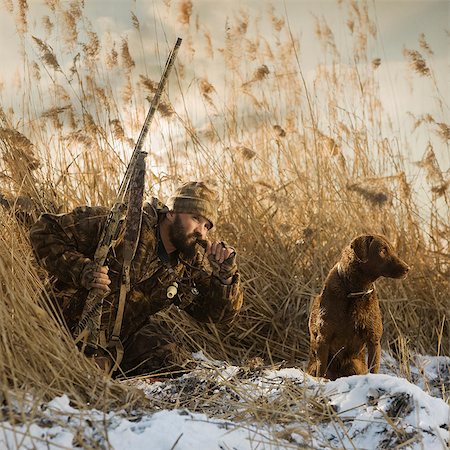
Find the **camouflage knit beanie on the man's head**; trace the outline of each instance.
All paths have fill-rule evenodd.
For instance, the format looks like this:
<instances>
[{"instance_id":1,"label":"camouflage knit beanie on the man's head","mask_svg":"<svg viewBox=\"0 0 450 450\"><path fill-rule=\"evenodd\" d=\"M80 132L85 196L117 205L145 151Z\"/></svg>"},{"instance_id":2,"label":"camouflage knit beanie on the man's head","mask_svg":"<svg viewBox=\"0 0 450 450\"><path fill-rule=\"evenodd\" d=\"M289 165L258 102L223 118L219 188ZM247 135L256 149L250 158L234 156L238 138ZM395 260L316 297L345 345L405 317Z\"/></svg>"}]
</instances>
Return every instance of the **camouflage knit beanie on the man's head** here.
<instances>
[{"instance_id":1,"label":"camouflage knit beanie on the man's head","mask_svg":"<svg viewBox=\"0 0 450 450\"><path fill-rule=\"evenodd\" d=\"M167 206L176 213L198 214L214 225L217 219L217 194L202 181L182 184L169 198Z\"/></svg>"}]
</instances>

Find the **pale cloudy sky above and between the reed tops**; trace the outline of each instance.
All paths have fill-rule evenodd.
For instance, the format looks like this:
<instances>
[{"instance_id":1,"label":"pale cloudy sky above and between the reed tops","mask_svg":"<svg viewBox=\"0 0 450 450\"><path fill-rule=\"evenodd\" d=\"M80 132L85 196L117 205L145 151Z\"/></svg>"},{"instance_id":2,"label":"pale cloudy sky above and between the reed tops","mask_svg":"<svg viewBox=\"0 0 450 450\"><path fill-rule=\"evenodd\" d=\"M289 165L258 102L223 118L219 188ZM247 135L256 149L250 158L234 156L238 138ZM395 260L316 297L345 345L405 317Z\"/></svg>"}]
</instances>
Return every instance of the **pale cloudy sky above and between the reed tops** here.
<instances>
[{"instance_id":1,"label":"pale cloudy sky above and between the reed tops","mask_svg":"<svg viewBox=\"0 0 450 450\"><path fill-rule=\"evenodd\" d=\"M23 2L23 0L22 0ZM13 80L21 70L21 37L16 30L16 19L20 14L16 0L2 0L0 14L0 36L2 38L2 67L0 82L3 89L3 103L15 101ZM53 48L58 51L61 44L59 34L64 30L56 30L51 36L46 35L43 17L51 16L49 6L60 3L63 8L70 8L76 1L58 0L28 0L28 39L30 35L48 39ZM204 35L209 33L214 48L223 47L228 20L248 16L248 33L259 32L271 42L274 39L270 24L269 11L283 19L290 27L294 38L300 42L300 64L308 78L314 72L321 55L320 43L315 34L316 18L324 19L333 30L339 52L343 55L352 54L351 42L348 39L347 21L351 2L338 0L192 0L192 10L189 24L183 24L180 17L186 0L85 0L84 11L89 19L91 29L99 36L109 35L118 40L124 36L129 39L130 49L137 64L161 67L168 49L176 37L184 37L189 31L191 41L189 67L195 71L195 76L204 77L216 85L225 76L223 63L215 58L206 57ZM358 7L362 2L355 1ZM405 111L416 114L428 112L438 121L449 122L450 98L450 46L449 23L450 2L447 0L373 0L369 1L369 16L377 27L377 39L370 44L369 53L373 58L381 58L380 95L387 112L397 120L394 129L398 133L406 132ZM184 9L185 11L185 9ZM141 35L144 43L138 42L139 37L133 31L132 14L139 19ZM55 17L55 16L53 16ZM433 50L430 66L434 74L441 97L447 100L444 105L437 105L436 91L431 88L429 80L412 76L407 69L403 55L404 48L420 50L418 40L421 33ZM198 45L196 39L202 40ZM31 48L31 47L30 47ZM143 51L137 50L143 48ZM195 51L193 50L195 49ZM183 49L186 51L185 49ZM159 54L157 54L159 52ZM182 53L182 52L180 52ZM183 55L179 58L184 58ZM216 63L217 61L217 63ZM147 70L147 69L146 69ZM151 70L151 68L150 68ZM11 85L12 83L12 85ZM12 86L12 87L11 87ZM443 106L443 107L442 107ZM424 152L426 135L413 140L414 155L418 159ZM448 146L437 148L438 158L444 170L448 170L450 156Z\"/></svg>"}]
</instances>

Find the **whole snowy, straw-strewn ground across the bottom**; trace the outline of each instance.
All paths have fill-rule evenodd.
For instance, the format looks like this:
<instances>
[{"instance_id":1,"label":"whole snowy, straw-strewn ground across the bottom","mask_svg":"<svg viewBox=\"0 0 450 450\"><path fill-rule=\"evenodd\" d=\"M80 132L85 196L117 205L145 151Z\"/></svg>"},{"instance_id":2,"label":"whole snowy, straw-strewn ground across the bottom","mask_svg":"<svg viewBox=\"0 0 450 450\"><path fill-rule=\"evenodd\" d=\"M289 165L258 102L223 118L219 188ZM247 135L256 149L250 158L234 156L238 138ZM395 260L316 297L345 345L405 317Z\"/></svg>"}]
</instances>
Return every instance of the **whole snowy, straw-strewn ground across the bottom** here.
<instances>
[{"instance_id":1,"label":"whole snowy, straw-strewn ground across the bottom","mask_svg":"<svg viewBox=\"0 0 450 450\"><path fill-rule=\"evenodd\" d=\"M336 381L195 356L198 369L177 379L127 381L144 391L151 411L80 411L58 397L31 424L0 422L0 449L448 448L448 357L416 357L411 384L393 376L398 367L388 355L383 373Z\"/></svg>"}]
</instances>

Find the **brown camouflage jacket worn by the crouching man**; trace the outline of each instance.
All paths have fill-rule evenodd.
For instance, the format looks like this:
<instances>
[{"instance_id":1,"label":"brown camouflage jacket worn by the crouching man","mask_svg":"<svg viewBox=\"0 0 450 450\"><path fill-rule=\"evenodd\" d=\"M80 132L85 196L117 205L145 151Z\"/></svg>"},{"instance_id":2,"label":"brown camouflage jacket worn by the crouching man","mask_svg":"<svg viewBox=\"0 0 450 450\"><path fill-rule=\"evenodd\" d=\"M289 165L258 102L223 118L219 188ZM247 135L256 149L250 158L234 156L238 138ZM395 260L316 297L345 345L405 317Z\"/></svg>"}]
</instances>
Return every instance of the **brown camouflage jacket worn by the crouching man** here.
<instances>
[{"instance_id":1,"label":"brown camouflage jacket worn by the crouching man","mask_svg":"<svg viewBox=\"0 0 450 450\"><path fill-rule=\"evenodd\" d=\"M172 303L200 321L228 321L242 305L240 276L230 285L211 274L204 250L198 246L191 260L179 257L166 265L158 257L158 223L167 209L153 199L145 203L141 234L131 265L131 290L127 295L121 339L139 330L147 317ZM80 319L88 291L81 287L81 274L90 263L109 209L81 206L67 214L43 214L30 230L30 239L40 264L54 277L53 290L64 319L73 332ZM111 335L119 299L123 244L119 242L108 260L111 292L104 300L102 328ZM167 297L176 281L178 293Z\"/></svg>"}]
</instances>

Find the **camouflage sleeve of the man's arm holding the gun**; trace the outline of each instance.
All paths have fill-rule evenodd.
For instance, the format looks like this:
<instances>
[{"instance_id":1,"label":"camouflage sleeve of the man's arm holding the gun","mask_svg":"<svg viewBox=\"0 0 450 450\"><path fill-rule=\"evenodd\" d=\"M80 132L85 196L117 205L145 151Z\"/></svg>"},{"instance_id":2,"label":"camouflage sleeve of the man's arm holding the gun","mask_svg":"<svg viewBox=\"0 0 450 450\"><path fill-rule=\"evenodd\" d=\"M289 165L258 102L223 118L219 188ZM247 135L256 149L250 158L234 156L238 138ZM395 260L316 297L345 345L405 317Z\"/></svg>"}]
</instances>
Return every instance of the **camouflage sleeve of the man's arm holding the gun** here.
<instances>
[{"instance_id":1,"label":"camouflage sleeve of the man's arm holding the gun","mask_svg":"<svg viewBox=\"0 0 450 450\"><path fill-rule=\"evenodd\" d=\"M42 214L30 240L39 263L59 280L80 286L84 266L92 261L108 209L80 206L67 214Z\"/></svg>"}]
</instances>

